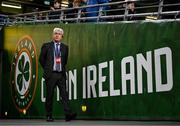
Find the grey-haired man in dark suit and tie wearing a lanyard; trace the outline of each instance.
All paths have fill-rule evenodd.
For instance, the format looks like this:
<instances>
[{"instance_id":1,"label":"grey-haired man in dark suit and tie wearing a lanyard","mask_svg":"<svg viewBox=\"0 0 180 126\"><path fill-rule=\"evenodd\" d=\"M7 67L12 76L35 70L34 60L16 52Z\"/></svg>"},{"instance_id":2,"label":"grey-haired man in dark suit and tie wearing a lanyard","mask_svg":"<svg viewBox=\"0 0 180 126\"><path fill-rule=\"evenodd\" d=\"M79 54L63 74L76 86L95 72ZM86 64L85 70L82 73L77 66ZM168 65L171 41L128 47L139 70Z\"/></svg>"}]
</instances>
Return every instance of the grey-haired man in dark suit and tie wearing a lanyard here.
<instances>
[{"instance_id":1,"label":"grey-haired man in dark suit and tie wearing a lanyard","mask_svg":"<svg viewBox=\"0 0 180 126\"><path fill-rule=\"evenodd\" d=\"M66 91L66 64L68 60L68 46L62 43L64 31L61 28L54 28L53 40L44 43L41 48L39 61L43 67L46 83L46 112L47 121L53 121L52 106L54 88L58 86L61 101L64 107L65 120L70 121L76 117L68 104L68 93Z\"/></svg>"}]
</instances>

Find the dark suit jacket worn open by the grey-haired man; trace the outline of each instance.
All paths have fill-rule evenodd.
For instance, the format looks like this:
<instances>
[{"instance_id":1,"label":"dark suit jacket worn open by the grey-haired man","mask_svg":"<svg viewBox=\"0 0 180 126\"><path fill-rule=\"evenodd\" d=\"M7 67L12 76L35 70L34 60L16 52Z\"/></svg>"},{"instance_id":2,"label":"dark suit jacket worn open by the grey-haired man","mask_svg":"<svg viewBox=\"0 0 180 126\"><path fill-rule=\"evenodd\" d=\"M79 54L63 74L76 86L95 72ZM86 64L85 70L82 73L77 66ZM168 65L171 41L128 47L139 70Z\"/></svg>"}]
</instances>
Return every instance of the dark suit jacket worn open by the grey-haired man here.
<instances>
[{"instance_id":1,"label":"dark suit jacket worn open by the grey-haired man","mask_svg":"<svg viewBox=\"0 0 180 126\"><path fill-rule=\"evenodd\" d=\"M62 73L64 77L66 77L66 64L68 60L68 46L61 43L61 65L62 65ZM41 48L41 53L39 56L39 62L43 67L44 74L43 77L48 79L53 72L54 65L54 42L44 43Z\"/></svg>"}]
</instances>

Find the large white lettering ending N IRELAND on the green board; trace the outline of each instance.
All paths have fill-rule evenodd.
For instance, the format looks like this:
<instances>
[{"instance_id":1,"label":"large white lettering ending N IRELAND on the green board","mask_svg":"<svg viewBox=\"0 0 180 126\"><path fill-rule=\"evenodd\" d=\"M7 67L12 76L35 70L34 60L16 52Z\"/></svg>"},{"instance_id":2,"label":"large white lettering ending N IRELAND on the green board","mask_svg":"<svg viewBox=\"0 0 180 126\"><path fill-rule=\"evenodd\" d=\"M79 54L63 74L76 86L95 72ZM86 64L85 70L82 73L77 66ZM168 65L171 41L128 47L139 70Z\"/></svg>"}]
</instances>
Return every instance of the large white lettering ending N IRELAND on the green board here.
<instances>
[{"instance_id":1,"label":"large white lettering ending N IRELAND on the green board","mask_svg":"<svg viewBox=\"0 0 180 126\"><path fill-rule=\"evenodd\" d=\"M173 89L172 50L163 47L67 72L69 99L167 92ZM79 76L82 75L82 76ZM45 101L44 80L41 100ZM59 91L57 90L57 100Z\"/></svg>"}]
</instances>

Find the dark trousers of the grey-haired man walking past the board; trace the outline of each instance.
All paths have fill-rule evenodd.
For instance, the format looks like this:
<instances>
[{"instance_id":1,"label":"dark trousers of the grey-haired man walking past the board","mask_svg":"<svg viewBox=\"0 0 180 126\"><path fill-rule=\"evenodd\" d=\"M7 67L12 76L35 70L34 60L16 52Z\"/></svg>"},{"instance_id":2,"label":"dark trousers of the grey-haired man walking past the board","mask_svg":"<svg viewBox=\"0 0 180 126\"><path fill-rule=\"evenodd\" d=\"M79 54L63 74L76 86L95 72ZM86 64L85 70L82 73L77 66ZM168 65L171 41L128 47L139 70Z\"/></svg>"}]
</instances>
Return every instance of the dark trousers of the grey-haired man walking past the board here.
<instances>
[{"instance_id":1,"label":"dark trousers of the grey-haired man walking past the board","mask_svg":"<svg viewBox=\"0 0 180 126\"><path fill-rule=\"evenodd\" d=\"M62 73L53 72L51 77L45 80L46 82L46 112L47 116L52 116L53 111L53 95L54 89L58 86L60 90L61 102L64 107L65 115L71 113L69 104L68 104L68 93L66 91L66 79Z\"/></svg>"}]
</instances>

